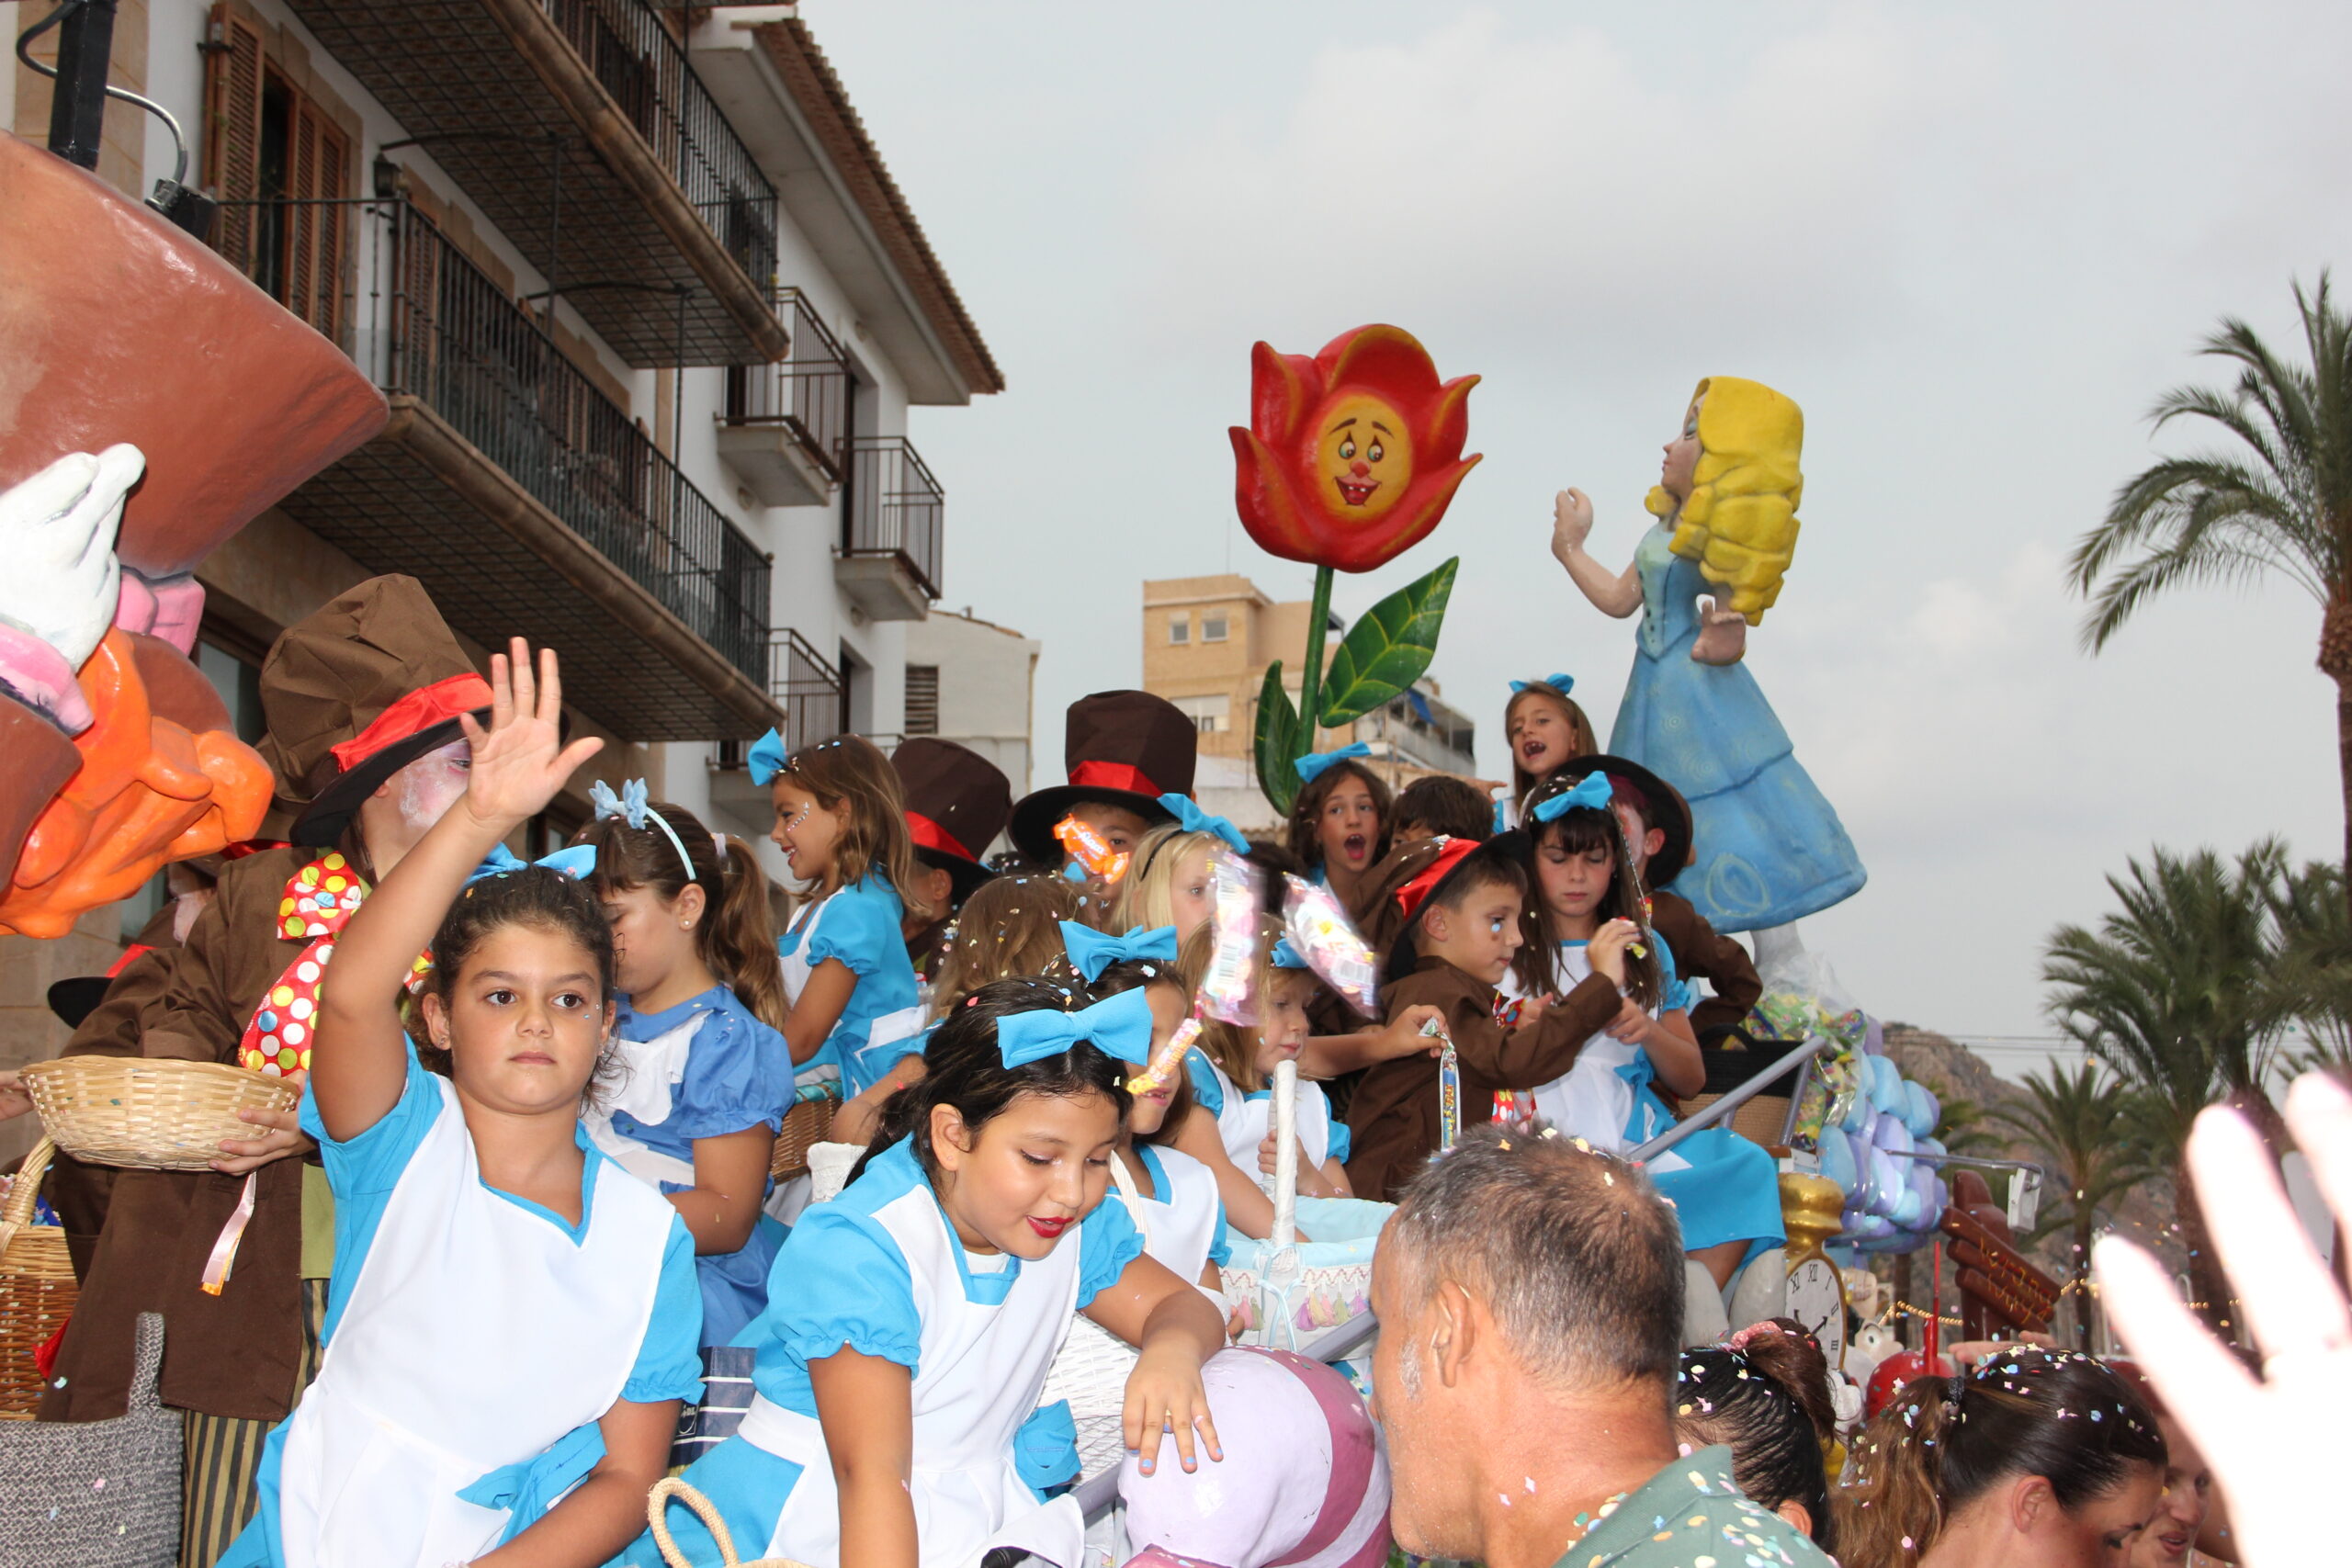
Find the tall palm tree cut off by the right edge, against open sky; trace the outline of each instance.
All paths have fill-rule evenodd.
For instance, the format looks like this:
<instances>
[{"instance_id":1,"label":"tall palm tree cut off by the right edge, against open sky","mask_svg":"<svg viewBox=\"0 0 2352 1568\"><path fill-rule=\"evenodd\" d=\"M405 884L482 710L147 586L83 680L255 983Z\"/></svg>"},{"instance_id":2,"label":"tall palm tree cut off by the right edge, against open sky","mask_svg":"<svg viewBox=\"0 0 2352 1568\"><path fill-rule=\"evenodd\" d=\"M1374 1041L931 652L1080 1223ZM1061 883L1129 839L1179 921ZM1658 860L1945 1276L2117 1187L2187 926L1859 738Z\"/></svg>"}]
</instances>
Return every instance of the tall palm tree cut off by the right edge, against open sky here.
<instances>
[{"instance_id":1,"label":"tall palm tree cut off by the right edge, against open sky","mask_svg":"<svg viewBox=\"0 0 2352 1568\"><path fill-rule=\"evenodd\" d=\"M2161 430L2199 418L2239 451L2166 458L2114 491L2107 517L2074 543L2067 581L2091 599L2082 639L2100 651L2159 592L2279 574L2321 604L2319 672L2336 682L2336 748L2352 870L2352 317L2296 284L2310 364L2288 364L2237 317L2199 353L2237 364L2227 390L2157 397ZM2345 884L2352 893L2352 882Z\"/></svg>"}]
</instances>

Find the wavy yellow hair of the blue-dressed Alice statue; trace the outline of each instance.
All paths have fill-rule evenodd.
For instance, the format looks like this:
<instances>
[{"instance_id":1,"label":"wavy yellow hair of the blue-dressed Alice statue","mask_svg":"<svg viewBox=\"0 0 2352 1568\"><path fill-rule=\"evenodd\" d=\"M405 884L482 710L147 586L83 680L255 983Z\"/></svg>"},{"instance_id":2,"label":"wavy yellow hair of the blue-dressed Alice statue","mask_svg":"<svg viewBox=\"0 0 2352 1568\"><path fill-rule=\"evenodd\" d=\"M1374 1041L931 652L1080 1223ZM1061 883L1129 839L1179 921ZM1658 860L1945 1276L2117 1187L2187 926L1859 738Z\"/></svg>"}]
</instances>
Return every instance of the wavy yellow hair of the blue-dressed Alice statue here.
<instances>
[{"instance_id":1,"label":"wavy yellow hair of the blue-dressed Alice statue","mask_svg":"<svg viewBox=\"0 0 2352 1568\"><path fill-rule=\"evenodd\" d=\"M1698 576L1729 588L1731 609L1748 616L1748 625L1762 625L1797 555L1804 411L1762 381L1738 376L1708 376L1691 402L1700 397L1691 498L1677 515L1675 496L1653 487L1644 505L1675 520L1668 548L1698 562Z\"/></svg>"}]
</instances>

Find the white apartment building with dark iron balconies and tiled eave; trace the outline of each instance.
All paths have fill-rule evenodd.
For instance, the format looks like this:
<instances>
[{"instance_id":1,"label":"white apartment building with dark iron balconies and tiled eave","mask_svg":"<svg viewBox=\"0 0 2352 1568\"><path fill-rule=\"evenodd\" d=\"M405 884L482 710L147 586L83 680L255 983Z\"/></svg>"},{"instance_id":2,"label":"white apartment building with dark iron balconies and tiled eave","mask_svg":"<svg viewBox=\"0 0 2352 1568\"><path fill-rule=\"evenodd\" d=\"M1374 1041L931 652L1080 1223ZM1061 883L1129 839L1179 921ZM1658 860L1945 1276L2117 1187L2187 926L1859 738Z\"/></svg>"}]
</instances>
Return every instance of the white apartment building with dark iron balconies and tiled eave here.
<instances>
[{"instance_id":1,"label":"white apartment building with dark iron balconies and tiled eave","mask_svg":"<svg viewBox=\"0 0 2352 1568\"><path fill-rule=\"evenodd\" d=\"M0 5L9 40L40 14ZM409 571L475 651L560 649L597 771L727 832L767 830L741 752L771 724L908 729L946 531L908 409L1004 378L795 7L120 0L111 61L183 129L212 244L393 407L200 567L240 726L278 630ZM47 136L16 61L0 125ZM108 103L103 179L143 197L174 165ZM583 818L567 797L536 835ZM31 969L7 943L0 1056L47 1053L14 1025L92 943Z\"/></svg>"}]
</instances>

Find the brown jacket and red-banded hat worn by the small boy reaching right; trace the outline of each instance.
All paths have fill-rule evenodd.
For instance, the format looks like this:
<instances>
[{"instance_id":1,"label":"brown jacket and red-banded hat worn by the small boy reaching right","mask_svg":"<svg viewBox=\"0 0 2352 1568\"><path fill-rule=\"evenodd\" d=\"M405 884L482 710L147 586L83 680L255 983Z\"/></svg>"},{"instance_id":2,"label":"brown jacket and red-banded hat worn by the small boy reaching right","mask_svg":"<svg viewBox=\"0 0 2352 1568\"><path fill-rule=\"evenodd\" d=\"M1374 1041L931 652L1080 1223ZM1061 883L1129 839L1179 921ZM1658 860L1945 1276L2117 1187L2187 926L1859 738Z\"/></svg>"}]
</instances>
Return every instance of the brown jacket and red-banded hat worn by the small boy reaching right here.
<instances>
[{"instance_id":1,"label":"brown jacket and red-banded hat worn by the small boy reaching right","mask_svg":"<svg viewBox=\"0 0 2352 1568\"><path fill-rule=\"evenodd\" d=\"M1367 877L1378 903L1367 900L1359 910L1388 959L1388 980L1381 985L1388 1018L1402 1018L1414 1006L1435 1006L1446 1016L1446 1034L1461 1063L1465 1128L1494 1119L1498 1088L1536 1088L1573 1067L1576 1053L1609 1027L1623 1001L1604 976L1590 976L1536 1023L1505 1030L1494 1018L1491 985L1435 954L1416 952L1414 931L1430 898L1442 896L1475 858L1517 853L1512 839L1517 835L1486 844L1421 839L1395 849ZM1348 1187L1359 1199L1395 1204L1421 1161L1439 1147L1437 1058L1416 1051L1367 1067L1348 1103L1348 1131L1355 1140Z\"/></svg>"}]
</instances>

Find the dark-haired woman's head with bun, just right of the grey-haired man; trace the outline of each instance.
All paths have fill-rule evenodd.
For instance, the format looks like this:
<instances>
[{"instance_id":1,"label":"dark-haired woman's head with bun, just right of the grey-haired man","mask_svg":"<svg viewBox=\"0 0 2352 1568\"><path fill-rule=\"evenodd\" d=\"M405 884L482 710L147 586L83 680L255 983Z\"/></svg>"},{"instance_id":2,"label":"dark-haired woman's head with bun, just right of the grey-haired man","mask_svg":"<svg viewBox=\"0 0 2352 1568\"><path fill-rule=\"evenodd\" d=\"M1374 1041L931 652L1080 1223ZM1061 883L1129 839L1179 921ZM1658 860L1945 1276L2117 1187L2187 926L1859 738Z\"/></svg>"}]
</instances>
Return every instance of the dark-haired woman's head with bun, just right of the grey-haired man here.
<instances>
[{"instance_id":1,"label":"dark-haired woman's head with bun, just right of the grey-haired man","mask_svg":"<svg viewBox=\"0 0 2352 1568\"><path fill-rule=\"evenodd\" d=\"M1675 1436L1691 1448L1731 1448L1731 1479L1750 1502L1837 1552L1825 1465L1837 1441L1830 1363L1802 1324L1776 1316L1682 1352Z\"/></svg>"}]
</instances>

